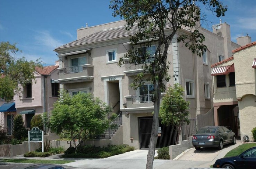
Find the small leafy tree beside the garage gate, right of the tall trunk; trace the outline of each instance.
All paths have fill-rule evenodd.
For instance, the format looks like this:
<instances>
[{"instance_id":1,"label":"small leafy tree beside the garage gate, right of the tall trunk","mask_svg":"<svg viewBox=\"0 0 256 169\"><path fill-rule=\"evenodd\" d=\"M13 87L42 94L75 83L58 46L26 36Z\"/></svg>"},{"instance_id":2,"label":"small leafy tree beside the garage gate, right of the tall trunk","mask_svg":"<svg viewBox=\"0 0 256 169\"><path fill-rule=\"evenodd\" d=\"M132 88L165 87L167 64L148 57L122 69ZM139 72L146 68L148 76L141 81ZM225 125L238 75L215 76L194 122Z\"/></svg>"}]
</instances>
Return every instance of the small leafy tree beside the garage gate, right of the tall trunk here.
<instances>
[{"instance_id":1,"label":"small leafy tree beside the garage gate, right of the tall trunk","mask_svg":"<svg viewBox=\"0 0 256 169\"><path fill-rule=\"evenodd\" d=\"M176 137L176 144L179 142L179 136L181 133L182 125L189 124L189 101L184 100L183 96L184 88L179 84L174 84L173 88L170 86L163 97L159 119L162 124L174 125L178 131Z\"/></svg>"}]
</instances>

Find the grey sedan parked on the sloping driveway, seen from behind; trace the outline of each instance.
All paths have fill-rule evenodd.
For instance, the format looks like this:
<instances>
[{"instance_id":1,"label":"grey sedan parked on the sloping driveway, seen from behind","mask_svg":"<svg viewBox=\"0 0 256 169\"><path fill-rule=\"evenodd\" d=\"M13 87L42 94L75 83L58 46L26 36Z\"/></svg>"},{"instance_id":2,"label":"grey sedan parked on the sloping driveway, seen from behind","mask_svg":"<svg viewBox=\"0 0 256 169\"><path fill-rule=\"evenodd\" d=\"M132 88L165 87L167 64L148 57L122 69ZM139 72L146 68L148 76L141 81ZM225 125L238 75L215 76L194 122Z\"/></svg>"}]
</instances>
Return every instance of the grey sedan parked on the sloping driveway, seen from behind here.
<instances>
[{"instance_id":1,"label":"grey sedan parked on the sloping driveway, seen from behind","mask_svg":"<svg viewBox=\"0 0 256 169\"><path fill-rule=\"evenodd\" d=\"M221 150L223 145L229 143L236 144L236 135L224 126L202 127L192 137L192 144L196 150L201 147L217 147Z\"/></svg>"}]
</instances>

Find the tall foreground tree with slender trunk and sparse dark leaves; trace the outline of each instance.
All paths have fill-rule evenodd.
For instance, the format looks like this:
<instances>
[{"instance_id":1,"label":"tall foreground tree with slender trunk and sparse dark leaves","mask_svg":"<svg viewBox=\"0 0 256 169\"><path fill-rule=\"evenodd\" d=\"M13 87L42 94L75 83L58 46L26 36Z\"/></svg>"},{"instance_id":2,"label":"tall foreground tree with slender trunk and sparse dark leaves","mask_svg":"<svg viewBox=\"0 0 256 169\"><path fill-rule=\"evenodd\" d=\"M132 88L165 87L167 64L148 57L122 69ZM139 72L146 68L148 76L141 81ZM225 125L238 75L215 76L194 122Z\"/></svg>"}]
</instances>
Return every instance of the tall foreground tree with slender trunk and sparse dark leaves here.
<instances>
[{"instance_id":1,"label":"tall foreground tree with slender trunk and sparse dark leaves","mask_svg":"<svg viewBox=\"0 0 256 169\"><path fill-rule=\"evenodd\" d=\"M169 81L171 78L168 74L170 63L167 62L167 54L174 35L179 32L177 42L183 42L193 54L198 56L201 56L207 48L203 45L205 37L199 32L200 8L195 3L202 3L217 17L224 16L227 11L227 7L219 0L111 0L112 15L125 19L126 30L137 29L129 38L131 45L140 44L147 47L154 42L158 43L154 55L131 48L118 62L119 66L125 64L126 60L141 66L143 71L135 77L131 87L136 89L143 81L149 81L155 89L153 124L146 168L153 167L159 127L160 96L161 91L165 91L164 80ZM190 34L179 31L182 27L189 29Z\"/></svg>"}]
</instances>

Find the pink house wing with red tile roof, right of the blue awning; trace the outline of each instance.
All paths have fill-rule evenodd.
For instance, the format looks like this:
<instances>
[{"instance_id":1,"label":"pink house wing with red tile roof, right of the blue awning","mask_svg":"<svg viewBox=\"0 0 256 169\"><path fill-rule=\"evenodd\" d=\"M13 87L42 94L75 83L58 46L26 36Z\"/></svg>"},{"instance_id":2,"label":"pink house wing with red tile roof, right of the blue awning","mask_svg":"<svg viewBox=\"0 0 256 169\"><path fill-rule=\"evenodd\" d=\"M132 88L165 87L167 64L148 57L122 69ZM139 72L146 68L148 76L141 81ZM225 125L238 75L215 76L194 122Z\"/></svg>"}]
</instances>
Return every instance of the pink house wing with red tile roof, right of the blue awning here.
<instances>
[{"instance_id":1,"label":"pink house wing with red tile roof, right of the blue awning","mask_svg":"<svg viewBox=\"0 0 256 169\"><path fill-rule=\"evenodd\" d=\"M59 63L54 66L36 68L36 83L28 83L23 88L22 98L15 96L17 114L23 115L25 127L30 128L30 121L35 114L51 112L53 103L59 95Z\"/></svg>"}]
</instances>

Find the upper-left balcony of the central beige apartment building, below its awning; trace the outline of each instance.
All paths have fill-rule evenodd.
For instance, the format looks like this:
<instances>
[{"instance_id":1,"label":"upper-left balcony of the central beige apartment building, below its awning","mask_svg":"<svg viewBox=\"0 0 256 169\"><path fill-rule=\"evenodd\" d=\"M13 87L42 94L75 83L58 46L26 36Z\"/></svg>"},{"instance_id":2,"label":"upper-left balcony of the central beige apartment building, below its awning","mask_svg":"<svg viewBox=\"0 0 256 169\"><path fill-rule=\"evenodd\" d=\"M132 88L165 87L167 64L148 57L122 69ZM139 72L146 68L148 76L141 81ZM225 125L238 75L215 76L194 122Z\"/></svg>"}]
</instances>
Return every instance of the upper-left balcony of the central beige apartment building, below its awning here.
<instances>
[{"instance_id":1,"label":"upper-left balcony of the central beige apartment building, below its awning","mask_svg":"<svg viewBox=\"0 0 256 169\"><path fill-rule=\"evenodd\" d=\"M80 66L72 66L59 68L60 84L93 81L93 65L84 64Z\"/></svg>"}]
</instances>

